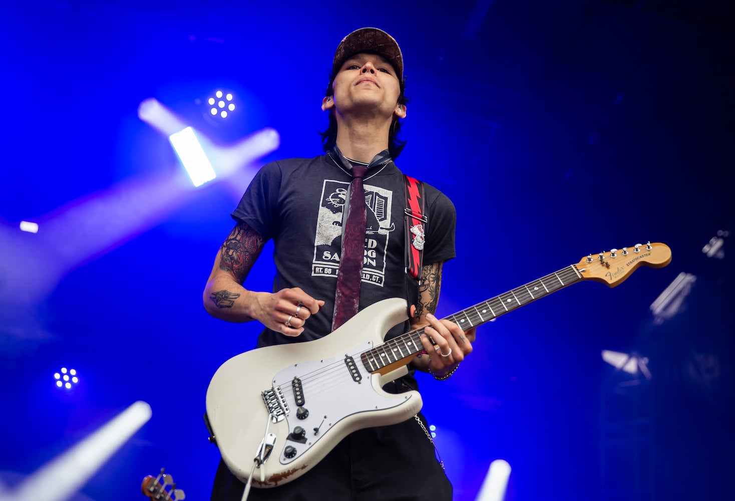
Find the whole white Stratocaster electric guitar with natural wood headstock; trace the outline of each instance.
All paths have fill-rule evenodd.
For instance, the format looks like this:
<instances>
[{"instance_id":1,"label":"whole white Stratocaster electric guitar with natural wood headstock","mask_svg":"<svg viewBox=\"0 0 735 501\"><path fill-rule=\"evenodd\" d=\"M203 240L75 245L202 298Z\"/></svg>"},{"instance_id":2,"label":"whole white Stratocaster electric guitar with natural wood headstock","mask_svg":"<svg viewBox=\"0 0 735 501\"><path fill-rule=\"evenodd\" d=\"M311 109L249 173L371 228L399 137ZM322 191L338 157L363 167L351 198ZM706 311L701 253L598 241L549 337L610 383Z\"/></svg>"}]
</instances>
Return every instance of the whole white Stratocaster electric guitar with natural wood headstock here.
<instances>
[{"instance_id":1,"label":"whole white Stratocaster electric guitar with natural wood headstock","mask_svg":"<svg viewBox=\"0 0 735 501\"><path fill-rule=\"evenodd\" d=\"M600 252L447 319L467 330L581 280L614 287L640 265L661 268L670 260L664 244ZM423 328L384 342L405 320L405 300L384 299L324 338L254 349L223 363L207 389L207 416L230 471L256 487L278 486L304 475L349 433L417 413L417 391L381 389L423 351Z\"/></svg>"}]
</instances>

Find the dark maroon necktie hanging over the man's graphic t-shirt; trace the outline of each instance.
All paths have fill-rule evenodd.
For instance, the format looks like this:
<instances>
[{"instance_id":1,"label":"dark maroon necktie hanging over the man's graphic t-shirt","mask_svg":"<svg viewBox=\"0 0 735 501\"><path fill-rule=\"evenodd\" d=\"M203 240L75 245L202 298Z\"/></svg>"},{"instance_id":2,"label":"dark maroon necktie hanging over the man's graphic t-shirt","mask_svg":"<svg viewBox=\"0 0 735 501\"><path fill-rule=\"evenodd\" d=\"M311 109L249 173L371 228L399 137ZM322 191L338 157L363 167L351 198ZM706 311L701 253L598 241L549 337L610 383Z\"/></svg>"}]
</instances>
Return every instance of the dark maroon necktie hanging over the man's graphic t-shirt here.
<instances>
[{"instance_id":1,"label":"dark maroon necktie hanging over the man's graphic t-shirt","mask_svg":"<svg viewBox=\"0 0 735 501\"><path fill-rule=\"evenodd\" d=\"M340 270L337 271L337 292L334 294L334 317L331 330L344 324L357 313L360 304L362 260L365 256L365 189L362 177L367 167L352 168L352 185L347 221L342 234Z\"/></svg>"}]
</instances>

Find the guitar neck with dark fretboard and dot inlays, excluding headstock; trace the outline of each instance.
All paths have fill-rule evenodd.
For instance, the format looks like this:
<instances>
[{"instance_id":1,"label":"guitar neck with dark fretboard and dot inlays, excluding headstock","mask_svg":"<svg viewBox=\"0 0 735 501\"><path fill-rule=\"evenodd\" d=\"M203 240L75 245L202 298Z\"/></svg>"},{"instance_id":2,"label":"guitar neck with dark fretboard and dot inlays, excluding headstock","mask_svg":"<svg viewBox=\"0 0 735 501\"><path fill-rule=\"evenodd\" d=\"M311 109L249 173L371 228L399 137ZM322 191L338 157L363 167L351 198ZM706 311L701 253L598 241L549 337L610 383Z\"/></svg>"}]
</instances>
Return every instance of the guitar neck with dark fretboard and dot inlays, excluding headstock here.
<instances>
[{"instance_id":1,"label":"guitar neck with dark fretboard and dot inlays, excluding headstock","mask_svg":"<svg viewBox=\"0 0 735 501\"><path fill-rule=\"evenodd\" d=\"M462 327L462 330L468 330L487 321L497 319L498 316L523 305L528 305L529 302L548 296L548 294L559 291L559 289L572 285L579 280L582 280L580 271L576 265L570 265L531 283L514 288L505 294L470 306L470 308L447 316L445 319L453 321L459 327ZM373 349L368 349L361 355L362 363L370 372L380 371L384 367L394 364L398 366L406 365L414 355L423 352L424 348L421 344L423 333L424 330L421 327L392 338Z\"/></svg>"}]
</instances>

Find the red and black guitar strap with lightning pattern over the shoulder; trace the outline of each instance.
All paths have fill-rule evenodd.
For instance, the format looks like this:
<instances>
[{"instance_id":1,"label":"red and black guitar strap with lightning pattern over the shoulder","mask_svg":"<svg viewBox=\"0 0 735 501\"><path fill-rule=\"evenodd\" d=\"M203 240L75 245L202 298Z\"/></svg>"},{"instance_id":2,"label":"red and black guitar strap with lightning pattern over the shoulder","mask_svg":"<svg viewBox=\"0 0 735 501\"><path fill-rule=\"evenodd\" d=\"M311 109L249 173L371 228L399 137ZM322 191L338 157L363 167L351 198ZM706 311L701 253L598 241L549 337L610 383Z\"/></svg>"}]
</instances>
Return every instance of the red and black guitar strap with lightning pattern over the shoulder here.
<instances>
[{"instance_id":1,"label":"red and black guitar strap with lightning pattern over the shoulder","mask_svg":"<svg viewBox=\"0 0 735 501\"><path fill-rule=\"evenodd\" d=\"M406 175L404 181L406 182L406 299L409 316L412 316L412 306L418 300L418 288L421 283L423 246L429 218L424 205L423 183Z\"/></svg>"}]
</instances>

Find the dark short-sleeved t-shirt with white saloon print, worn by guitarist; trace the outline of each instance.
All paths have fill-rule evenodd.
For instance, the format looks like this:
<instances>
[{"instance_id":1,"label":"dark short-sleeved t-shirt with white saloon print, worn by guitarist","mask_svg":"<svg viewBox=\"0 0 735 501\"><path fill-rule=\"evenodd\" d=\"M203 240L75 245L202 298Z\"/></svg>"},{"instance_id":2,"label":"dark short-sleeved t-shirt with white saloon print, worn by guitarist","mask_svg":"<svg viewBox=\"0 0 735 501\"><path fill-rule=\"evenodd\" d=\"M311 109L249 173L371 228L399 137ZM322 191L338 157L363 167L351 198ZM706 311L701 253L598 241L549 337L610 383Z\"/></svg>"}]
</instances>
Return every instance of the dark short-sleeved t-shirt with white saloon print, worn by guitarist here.
<instances>
[{"instance_id":1,"label":"dark short-sleeved t-shirt with white saloon print, worn by guitarist","mask_svg":"<svg viewBox=\"0 0 735 501\"><path fill-rule=\"evenodd\" d=\"M259 346L311 341L329 334L342 247L342 215L351 176L329 156L268 163L255 175L232 213L265 240L273 239L276 280L273 291L300 287L325 305L297 337L265 330ZM374 167L365 175L368 205L360 310L381 299L406 297L404 177L395 164ZM423 251L425 265L455 256L454 206L424 183L429 224ZM409 330L408 322L388 338Z\"/></svg>"}]
</instances>

